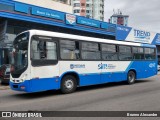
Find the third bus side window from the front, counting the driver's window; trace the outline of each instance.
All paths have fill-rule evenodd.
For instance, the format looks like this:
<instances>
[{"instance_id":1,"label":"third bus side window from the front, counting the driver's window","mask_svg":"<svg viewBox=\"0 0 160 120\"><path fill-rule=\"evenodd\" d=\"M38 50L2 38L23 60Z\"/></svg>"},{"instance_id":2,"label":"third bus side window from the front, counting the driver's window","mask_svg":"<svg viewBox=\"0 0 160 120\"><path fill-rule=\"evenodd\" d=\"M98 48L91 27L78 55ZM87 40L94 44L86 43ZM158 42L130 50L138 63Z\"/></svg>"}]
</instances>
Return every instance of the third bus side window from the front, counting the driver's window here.
<instances>
[{"instance_id":1,"label":"third bus side window from the front, counting the driver's window","mask_svg":"<svg viewBox=\"0 0 160 120\"><path fill-rule=\"evenodd\" d=\"M83 60L100 60L101 53L98 43L82 42L82 59Z\"/></svg>"}]
</instances>

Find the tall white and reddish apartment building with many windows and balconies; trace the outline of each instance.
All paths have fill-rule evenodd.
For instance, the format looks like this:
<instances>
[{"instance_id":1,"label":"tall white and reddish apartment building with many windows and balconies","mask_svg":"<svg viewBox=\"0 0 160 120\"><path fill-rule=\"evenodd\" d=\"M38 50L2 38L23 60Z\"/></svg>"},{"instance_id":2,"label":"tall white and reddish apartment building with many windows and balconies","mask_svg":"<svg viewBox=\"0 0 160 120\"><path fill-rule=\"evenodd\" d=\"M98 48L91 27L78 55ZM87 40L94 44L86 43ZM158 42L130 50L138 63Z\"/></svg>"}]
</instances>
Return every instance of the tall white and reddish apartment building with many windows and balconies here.
<instances>
[{"instance_id":1,"label":"tall white and reddish apartment building with many windows and balconies","mask_svg":"<svg viewBox=\"0 0 160 120\"><path fill-rule=\"evenodd\" d=\"M104 0L71 0L73 13L104 21Z\"/></svg>"}]
</instances>

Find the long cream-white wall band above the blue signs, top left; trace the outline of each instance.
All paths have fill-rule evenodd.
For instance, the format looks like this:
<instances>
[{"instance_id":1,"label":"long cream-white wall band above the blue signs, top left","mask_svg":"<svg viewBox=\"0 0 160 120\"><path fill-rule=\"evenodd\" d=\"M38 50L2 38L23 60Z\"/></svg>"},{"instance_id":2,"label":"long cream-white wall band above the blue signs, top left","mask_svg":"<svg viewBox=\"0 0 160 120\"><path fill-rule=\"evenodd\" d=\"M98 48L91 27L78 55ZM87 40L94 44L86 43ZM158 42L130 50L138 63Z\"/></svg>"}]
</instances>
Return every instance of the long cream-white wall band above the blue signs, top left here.
<instances>
[{"instance_id":1,"label":"long cream-white wall band above the blue signs, top left","mask_svg":"<svg viewBox=\"0 0 160 120\"><path fill-rule=\"evenodd\" d=\"M58 10L66 13L73 13L73 7L71 5L55 2L53 0L14 0L14 1L41 6L44 8Z\"/></svg>"}]
</instances>

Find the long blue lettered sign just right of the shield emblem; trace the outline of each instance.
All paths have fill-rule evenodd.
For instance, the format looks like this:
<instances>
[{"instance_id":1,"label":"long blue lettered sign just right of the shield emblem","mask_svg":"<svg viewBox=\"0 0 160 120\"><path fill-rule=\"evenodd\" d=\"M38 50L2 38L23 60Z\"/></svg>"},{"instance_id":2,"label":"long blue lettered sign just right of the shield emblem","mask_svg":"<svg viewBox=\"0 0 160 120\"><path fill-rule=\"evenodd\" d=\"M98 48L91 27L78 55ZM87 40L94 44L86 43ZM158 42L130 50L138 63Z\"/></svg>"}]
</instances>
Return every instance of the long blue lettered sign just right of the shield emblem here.
<instances>
[{"instance_id":1,"label":"long blue lettered sign just right of the shield emblem","mask_svg":"<svg viewBox=\"0 0 160 120\"><path fill-rule=\"evenodd\" d=\"M88 18L85 18L85 17L78 17L77 18L77 23L82 24L82 25L87 25L87 26L100 28L100 21L93 20L93 19L88 19Z\"/></svg>"}]
</instances>

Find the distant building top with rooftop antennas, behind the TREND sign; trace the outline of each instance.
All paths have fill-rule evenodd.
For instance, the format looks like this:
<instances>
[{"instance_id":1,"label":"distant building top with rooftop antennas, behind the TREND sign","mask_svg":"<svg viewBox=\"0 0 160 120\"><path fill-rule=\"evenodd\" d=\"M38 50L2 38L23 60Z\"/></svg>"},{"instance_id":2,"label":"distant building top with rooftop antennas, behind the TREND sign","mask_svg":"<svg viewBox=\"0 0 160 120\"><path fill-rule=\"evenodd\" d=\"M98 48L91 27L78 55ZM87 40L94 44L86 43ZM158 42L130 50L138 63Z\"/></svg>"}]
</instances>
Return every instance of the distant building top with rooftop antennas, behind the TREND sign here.
<instances>
[{"instance_id":1,"label":"distant building top with rooftop antennas, behind the TREND sign","mask_svg":"<svg viewBox=\"0 0 160 120\"><path fill-rule=\"evenodd\" d=\"M129 15L123 15L122 12L114 13L111 17L109 22L112 24L118 24L123 26L128 26L128 18Z\"/></svg>"}]
</instances>

